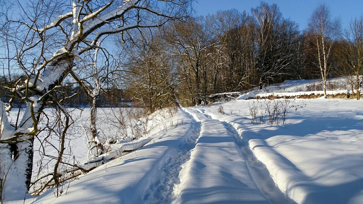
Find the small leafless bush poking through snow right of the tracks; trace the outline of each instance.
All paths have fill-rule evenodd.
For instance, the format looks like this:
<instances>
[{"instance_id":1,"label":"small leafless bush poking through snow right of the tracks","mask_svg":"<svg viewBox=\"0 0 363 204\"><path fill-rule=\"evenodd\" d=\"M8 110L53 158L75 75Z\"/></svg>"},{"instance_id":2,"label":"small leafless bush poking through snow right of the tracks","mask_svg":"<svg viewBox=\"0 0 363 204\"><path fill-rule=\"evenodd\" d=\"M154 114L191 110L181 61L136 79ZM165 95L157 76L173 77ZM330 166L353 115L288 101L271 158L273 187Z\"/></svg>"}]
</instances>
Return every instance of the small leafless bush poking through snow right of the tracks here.
<instances>
[{"instance_id":1,"label":"small leafless bush poking through snow right of the tracks","mask_svg":"<svg viewBox=\"0 0 363 204\"><path fill-rule=\"evenodd\" d=\"M306 104L296 104L295 99L253 100L248 103L252 124L285 124L290 113Z\"/></svg>"}]
</instances>

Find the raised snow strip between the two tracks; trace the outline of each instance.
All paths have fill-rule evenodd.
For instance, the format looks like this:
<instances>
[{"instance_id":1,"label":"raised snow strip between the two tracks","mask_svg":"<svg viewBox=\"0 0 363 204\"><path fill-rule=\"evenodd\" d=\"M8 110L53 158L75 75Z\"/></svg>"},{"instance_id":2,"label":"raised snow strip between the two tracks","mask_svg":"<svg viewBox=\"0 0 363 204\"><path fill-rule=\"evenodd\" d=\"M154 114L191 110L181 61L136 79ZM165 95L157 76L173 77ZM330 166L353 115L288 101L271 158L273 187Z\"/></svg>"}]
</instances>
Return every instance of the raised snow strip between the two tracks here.
<instances>
[{"instance_id":1,"label":"raised snow strip between the two tracks","mask_svg":"<svg viewBox=\"0 0 363 204\"><path fill-rule=\"evenodd\" d=\"M185 111L201 122L201 132L179 174L172 203L270 203L224 124L195 109Z\"/></svg>"}]
</instances>

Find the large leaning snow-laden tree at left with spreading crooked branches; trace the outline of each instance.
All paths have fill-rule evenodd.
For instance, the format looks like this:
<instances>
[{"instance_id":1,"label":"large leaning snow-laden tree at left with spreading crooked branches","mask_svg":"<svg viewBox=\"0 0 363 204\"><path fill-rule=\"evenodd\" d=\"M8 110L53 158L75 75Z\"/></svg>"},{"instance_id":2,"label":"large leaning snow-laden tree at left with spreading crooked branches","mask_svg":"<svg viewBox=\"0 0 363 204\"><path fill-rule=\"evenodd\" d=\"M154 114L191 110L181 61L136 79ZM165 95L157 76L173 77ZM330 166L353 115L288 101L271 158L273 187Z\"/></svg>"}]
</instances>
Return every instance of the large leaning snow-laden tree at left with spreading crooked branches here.
<instances>
[{"instance_id":1,"label":"large leaning snow-laden tree at left with spreading crooked branches","mask_svg":"<svg viewBox=\"0 0 363 204\"><path fill-rule=\"evenodd\" d=\"M0 200L24 199L32 175L34 137L44 130L38 128L43 110L52 105L68 114L63 104L68 97L63 91L68 86L64 80L73 78L77 83L86 83L84 78L92 78L94 73L82 72L89 64L87 62L93 61L87 58L87 53L103 49L98 42L110 34L123 35L131 29L159 27L168 21L182 19L189 15L190 3L191 0L129 0L120 5L114 0L73 0L65 5L65 2L41 1L34 5L38 9L29 9L34 13L8 21L9 26L19 30L12 39L17 45L13 64L23 71L23 78L8 87L10 105L4 107L0 102ZM59 11L64 14L54 16ZM95 95L96 89L89 93ZM21 100L26 109L23 115L19 114L11 121L16 121L12 124L4 110L11 111L14 98ZM61 134L64 138L66 133ZM61 152L59 157L62 157Z\"/></svg>"}]
</instances>

